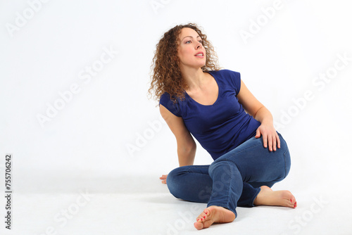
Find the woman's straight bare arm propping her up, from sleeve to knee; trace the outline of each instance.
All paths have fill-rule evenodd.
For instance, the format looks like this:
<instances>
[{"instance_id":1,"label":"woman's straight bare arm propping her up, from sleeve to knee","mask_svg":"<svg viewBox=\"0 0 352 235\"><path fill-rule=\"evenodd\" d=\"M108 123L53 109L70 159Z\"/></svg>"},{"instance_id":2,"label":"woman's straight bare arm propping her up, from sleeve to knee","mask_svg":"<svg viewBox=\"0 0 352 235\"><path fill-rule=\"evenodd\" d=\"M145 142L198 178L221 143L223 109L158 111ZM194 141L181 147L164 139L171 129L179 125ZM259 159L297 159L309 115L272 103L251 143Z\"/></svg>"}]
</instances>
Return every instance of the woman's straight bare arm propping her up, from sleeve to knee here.
<instances>
[{"instance_id":1,"label":"woman's straight bare arm propping her up, from sleeve to knee","mask_svg":"<svg viewBox=\"0 0 352 235\"><path fill-rule=\"evenodd\" d=\"M194 157L196 155L196 142L191 133L184 125L182 118L172 114L163 105L159 106L160 113L165 122L175 135L177 141L177 155L180 167L184 165L193 165Z\"/></svg>"}]
</instances>

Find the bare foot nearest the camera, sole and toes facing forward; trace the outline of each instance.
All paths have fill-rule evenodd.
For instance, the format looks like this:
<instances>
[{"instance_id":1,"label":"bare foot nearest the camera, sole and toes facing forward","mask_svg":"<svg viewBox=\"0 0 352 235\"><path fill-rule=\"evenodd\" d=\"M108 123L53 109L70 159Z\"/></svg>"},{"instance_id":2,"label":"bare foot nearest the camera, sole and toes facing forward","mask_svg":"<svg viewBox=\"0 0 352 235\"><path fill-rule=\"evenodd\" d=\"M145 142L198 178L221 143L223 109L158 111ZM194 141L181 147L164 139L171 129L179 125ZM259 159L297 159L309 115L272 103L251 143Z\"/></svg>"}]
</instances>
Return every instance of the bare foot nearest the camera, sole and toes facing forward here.
<instances>
[{"instance_id":1,"label":"bare foot nearest the camera, sole and toes facing forward","mask_svg":"<svg viewBox=\"0 0 352 235\"><path fill-rule=\"evenodd\" d=\"M232 222L235 217L234 212L231 210L227 210L221 206L210 205L210 207L204 209L201 215L197 217L194 227L198 230L206 229L213 223Z\"/></svg>"}]
</instances>

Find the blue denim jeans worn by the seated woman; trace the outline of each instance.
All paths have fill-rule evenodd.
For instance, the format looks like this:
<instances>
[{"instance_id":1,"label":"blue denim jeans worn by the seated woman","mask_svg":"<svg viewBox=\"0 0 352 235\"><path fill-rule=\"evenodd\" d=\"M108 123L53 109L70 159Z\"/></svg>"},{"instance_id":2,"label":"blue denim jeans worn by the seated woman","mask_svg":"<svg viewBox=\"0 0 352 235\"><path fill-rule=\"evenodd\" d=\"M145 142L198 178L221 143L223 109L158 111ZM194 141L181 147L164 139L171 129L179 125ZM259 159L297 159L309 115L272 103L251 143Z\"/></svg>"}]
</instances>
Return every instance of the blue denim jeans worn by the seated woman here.
<instances>
[{"instance_id":1,"label":"blue denim jeans worn by the seated woman","mask_svg":"<svg viewBox=\"0 0 352 235\"><path fill-rule=\"evenodd\" d=\"M279 138L276 151L264 148L262 137L252 137L211 165L178 167L168 174L168 189L176 198L222 206L237 217L237 206L254 206L260 186L271 187L289 174L289 148Z\"/></svg>"}]
</instances>

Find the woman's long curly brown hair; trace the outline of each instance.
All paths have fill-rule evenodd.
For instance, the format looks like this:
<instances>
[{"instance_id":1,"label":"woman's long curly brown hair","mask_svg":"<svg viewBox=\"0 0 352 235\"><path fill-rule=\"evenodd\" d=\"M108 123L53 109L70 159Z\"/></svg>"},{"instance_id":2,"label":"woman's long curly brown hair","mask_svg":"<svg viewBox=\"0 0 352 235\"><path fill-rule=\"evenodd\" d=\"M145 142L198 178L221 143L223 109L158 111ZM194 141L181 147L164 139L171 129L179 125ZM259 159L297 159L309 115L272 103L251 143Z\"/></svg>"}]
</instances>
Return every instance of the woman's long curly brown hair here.
<instances>
[{"instance_id":1,"label":"woman's long curly brown hair","mask_svg":"<svg viewBox=\"0 0 352 235\"><path fill-rule=\"evenodd\" d=\"M216 55L213 45L207 40L206 34L203 34L199 27L194 23L187 25L176 25L165 32L161 40L156 44L156 51L151 65L151 86L149 94L155 92L157 100L163 93L170 94L171 99L184 99L184 91L187 84L182 78L179 67L179 58L177 56L178 37L182 28L189 27L195 30L201 37L204 49L206 49L206 65L201 70L208 72L210 70L220 70L218 65L218 56Z\"/></svg>"}]
</instances>

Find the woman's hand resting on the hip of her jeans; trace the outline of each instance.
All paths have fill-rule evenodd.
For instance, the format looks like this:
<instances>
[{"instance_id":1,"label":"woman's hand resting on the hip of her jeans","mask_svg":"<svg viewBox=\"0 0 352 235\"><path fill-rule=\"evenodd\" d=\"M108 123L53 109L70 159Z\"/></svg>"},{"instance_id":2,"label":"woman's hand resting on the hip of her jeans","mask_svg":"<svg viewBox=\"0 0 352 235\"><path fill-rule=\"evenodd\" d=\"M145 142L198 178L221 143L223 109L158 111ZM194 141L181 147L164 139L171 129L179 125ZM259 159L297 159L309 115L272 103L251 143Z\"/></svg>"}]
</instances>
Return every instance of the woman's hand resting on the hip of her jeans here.
<instances>
[{"instance_id":1,"label":"woman's hand resting on the hip of her jeans","mask_svg":"<svg viewBox=\"0 0 352 235\"><path fill-rule=\"evenodd\" d=\"M277 148L280 148L280 139L273 125L262 124L258 127L256 138L260 137L260 134L263 136L263 146L267 148L269 146L269 151L276 151Z\"/></svg>"}]
</instances>

